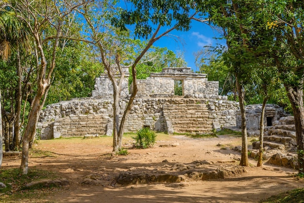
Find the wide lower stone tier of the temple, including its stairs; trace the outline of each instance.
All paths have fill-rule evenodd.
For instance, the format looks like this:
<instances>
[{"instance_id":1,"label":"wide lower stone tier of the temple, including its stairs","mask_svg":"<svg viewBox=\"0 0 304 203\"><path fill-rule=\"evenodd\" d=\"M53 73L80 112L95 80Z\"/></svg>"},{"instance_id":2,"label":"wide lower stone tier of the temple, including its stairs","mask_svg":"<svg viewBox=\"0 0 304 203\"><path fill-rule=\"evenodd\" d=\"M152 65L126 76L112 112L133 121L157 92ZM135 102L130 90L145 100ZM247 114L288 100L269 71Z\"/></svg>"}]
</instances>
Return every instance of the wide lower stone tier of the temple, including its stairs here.
<instances>
[{"instance_id":1,"label":"wide lower stone tier of the temple, including its stairs","mask_svg":"<svg viewBox=\"0 0 304 203\"><path fill-rule=\"evenodd\" d=\"M225 99L225 98L224 98ZM124 109L126 100L120 102ZM83 98L47 106L38 128L42 139L83 135L112 135L113 101ZM149 98L136 99L127 118L125 131L149 126L155 131L210 132L213 128L236 125L238 103L233 101ZM123 111L120 112L120 118Z\"/></svg>"}]
</instances>

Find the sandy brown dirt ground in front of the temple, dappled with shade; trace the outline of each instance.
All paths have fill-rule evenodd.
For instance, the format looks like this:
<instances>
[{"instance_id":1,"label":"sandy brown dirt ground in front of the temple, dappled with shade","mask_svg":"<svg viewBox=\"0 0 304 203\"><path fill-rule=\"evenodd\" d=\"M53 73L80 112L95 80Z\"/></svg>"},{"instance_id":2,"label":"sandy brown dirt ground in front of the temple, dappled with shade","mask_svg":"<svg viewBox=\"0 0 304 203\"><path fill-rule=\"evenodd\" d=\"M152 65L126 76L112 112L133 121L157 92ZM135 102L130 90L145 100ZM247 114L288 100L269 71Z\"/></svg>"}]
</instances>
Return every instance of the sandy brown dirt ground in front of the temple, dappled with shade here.
<instances>
[{"instance_id":1,"label":"sandy brown dirt ground in front of the temple, dappled with shade","mask_svg":"<svg viewBox=\"0 0 304 203\"><path fill-rule=\"evenodd\" d=\"M246 173L231 178L121 186L115 178L122 172L183 174L187 171L175 170L172 166L190 166L197 160L207 160L212 167L238 165L240 154L230 148L240 145L240 137L220 135L193 139L168 135L153 148L129 149L127 156L112 158L111 144L104 144L101 138L89 139L76 144L41 140L34 146L53 153L30 158L30 168L56 171L70 182L46 200L58 203L256 203L271 195L304 187L304 181L293 177L297 171L268 164L257 168L253 159L250 159L251 167L245 168ZM125 144L130 144L130 140ZM19 158L4 157L2 166L6 169L19 164ZM87 177L96 177L96 181L85 184Z\"/></svg>"}]
</instances>

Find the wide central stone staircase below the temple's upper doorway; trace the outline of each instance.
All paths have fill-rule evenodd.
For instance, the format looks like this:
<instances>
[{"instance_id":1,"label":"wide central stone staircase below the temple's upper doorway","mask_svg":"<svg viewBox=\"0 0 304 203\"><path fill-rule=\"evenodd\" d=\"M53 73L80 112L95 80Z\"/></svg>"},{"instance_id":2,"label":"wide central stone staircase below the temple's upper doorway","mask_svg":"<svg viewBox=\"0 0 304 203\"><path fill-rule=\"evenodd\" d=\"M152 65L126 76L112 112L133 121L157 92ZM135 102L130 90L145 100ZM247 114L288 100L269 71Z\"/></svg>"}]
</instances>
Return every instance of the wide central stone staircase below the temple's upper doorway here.
<instances>
[{"instance_id":1,"label":"wide central stone staircase below the temple's upper doorway","mask_svg":"<svg viewBox=\"0 0 304 203\"><path fill-rule=\"evenodd\" d=\"M176 133L210 133L213 129L208 104L166 104L163 114Z\"/></svg>"}]
</instances>

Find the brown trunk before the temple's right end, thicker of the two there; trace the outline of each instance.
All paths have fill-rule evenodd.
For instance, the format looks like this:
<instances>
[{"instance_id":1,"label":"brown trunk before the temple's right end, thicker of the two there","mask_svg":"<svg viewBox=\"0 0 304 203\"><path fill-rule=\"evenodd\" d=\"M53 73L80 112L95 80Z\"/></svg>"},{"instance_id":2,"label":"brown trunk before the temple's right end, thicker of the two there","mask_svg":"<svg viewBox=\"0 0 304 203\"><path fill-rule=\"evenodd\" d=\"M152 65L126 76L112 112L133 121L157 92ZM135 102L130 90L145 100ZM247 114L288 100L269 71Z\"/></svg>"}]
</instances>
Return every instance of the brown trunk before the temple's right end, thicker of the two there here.
<instances>
[{"instance_id":1,"label":"brown trunk before the temple's right end, thicker of the two there","mask_svg":"<svg viewBox=\"0 0 304 203\"><path fill-rule=\"evenodd\" d=\"M246 129L246 113L244 104L244 91L243 87L239 84L238 78L236 76L236 88L238 92L239 107L241 110L241 129L242 129L242 154L239 165L249 166L248 163L248 141L247 141L247 129Z\"/></svg>"}]
</instances>

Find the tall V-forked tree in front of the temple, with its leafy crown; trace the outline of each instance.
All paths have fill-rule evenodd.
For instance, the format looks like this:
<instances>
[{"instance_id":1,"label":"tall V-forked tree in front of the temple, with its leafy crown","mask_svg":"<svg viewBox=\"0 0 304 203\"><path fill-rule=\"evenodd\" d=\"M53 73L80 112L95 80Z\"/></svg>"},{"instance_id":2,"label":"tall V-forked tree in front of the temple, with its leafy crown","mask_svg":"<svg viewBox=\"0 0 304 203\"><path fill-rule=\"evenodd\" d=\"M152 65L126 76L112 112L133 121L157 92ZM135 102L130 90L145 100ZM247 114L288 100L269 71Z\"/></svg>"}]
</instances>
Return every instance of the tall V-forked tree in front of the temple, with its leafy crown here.
<instances>
[{"instance_id":1,"label":"tall V-forked tree in front of the temple, with its leafy crown","mask_svg":"<svg viewBox=\"0 0 304 203\"><path fill-rule=\"evenodd\" d=\"M119 8L119 3L111 5L102 2L98 7L98 11L103 11L103 14L109 14L112 9L115 13L112 17L97 16L90 14L91 8L84 8L80 11L88 23L91 31L91 38L100 50L101 62L106 72L112 81L114 93L114 117L113 117L113 154L118 152L121 148L122 135L124 132L125 120L131 110L133 101L137 93L136 83L136 66L143 58L145 53L151 48L152 44L161 37L167 36L172 30L188 30L191 16L190 1L184 0L163 0L163 1L149 1L149 0L129 0L123 9ZM121 5L123 5L121 3ZM106 7L107 6L107 7ZM111 20L111 24L109 25ZM129 26L135 26L134 32L129 30ZM169 27L162 32L163 27ZM101 29L100 29L101 28ZM113 36L115 36L113 38ZM146 38L147 43L142 47L136 47L134 60L128 59L128 52L130 51L129 37L137 36L139 38ZM123 63L124 62L124 63ZM131 97L119 118L119 95L121 92L121 85L124 80L125 72L123 65L128 65L132 72L133 85L131 89ZM118 73L118 74L115 74ZM119 76L117 76L119 75Z\"/></svg>"}]
</instances>

